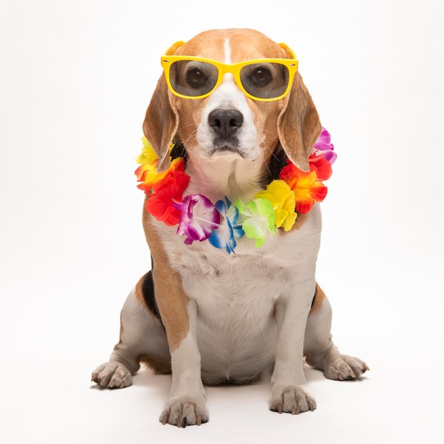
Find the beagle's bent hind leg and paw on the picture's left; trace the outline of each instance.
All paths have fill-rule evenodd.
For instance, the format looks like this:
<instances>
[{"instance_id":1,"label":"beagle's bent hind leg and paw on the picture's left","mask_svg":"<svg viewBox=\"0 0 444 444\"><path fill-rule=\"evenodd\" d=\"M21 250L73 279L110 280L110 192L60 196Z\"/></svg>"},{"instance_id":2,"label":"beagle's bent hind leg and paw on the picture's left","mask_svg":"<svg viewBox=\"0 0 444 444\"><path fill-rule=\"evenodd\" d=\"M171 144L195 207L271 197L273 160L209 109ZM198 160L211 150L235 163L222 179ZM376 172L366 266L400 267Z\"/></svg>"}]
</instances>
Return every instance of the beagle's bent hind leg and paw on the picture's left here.
<instances>
[{"instance_id":1,"label":"beagle's bent hind leg and paw on the picture's left","mask_svg":"<svg viewBox=\"0 0 444 444\"><path fill-rule=\"evenodd\" d=\"M156 373L171 372L170 350L157 317L151 272L140 279L123 304L120 340L109 362L92 372L91 381L109 389L128 387L141 362Z\"/></svg>"}]
</instances>

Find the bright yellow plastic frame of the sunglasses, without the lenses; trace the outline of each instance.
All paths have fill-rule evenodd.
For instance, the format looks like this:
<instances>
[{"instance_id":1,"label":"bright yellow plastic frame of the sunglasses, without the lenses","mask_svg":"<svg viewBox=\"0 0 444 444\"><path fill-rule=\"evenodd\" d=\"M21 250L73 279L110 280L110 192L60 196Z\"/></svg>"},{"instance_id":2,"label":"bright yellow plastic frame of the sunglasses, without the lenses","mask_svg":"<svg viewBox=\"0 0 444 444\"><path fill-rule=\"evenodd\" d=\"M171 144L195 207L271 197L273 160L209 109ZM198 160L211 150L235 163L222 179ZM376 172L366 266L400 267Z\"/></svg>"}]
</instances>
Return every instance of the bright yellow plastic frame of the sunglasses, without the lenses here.
<instances>
[{"instance_id":1,"label":"bright yellow plastic frame of the sunglasses, without the lenses","mask_svg":"<svg viewBox=\"0 0 444 444\"><path fill-rule=\"evenodd\" d=\"M257 101L279 100L288 94L290 88L292 87L294 74L296 74L296 71L298 70L299 60L297 60L293 50L291 50L285 43L279 43L279 46L283 48L286 54L289 56L289 58L287 59L257 59L257 60L247 60L245 62L237 62L237 63L223 63L223 62L218 62L217 60L206 59L203 57L194 57L192 55L174 55L177 49L180 46L182 46L184 43L185 42L182 41L174 43L167 50L167 52L165 52L165 55L162 55L162 57L160 58L160 64L162 65L162 68L165 72L165 78L167 79L167 84L168 87L170 88L170 91L175 96L182 97L183 99L204 99L205 97L208 97L222 83L223 76L227 73L230 73L233 74L235 83L238 85L238 87L243 91L245 96L249 97L250 99ZM211 91L207 92L206 94L201 94L200 96L186 96L184 94L180 94L177 91L174 91L174 88L172 87L170 80L170 68L174 62L179 62L181 60L206 62L211 65L214 65L218 70L218 79L213 89L211 89ZM245 90L240 80L240 70L242 70L242 68L245 66L252 65L255 63L278 63L280 65L284 65L285 67L287 67L289 71L289 79L288 79L287 89L284 91L283 94L277 97L262 99L260 97L252 96L252 94L248 93L248 91Z\"/></svg>"}]
</instances>

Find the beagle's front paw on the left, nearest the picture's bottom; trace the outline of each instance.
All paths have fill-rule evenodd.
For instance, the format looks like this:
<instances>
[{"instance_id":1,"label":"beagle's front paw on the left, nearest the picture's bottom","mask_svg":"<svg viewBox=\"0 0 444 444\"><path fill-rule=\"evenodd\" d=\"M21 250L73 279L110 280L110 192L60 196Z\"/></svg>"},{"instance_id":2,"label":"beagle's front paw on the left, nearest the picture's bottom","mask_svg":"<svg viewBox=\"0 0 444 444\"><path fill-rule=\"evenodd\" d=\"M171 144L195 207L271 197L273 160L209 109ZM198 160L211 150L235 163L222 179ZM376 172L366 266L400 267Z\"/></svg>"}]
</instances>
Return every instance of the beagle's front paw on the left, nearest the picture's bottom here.
<instances>
[{"instance_id":1,"label":"beagle's front paw on the left, nearest the picture's bottom","mask_svg":"<svg viewBox=\"0 0 444 444\"><path fill-rule=\"evenodd\" d=\"M172 398L167 401L160 415L162 424L170 423L177 427L200 426L209 421L204 396L199 399L184 397Z\"/></svg>"}]
</instances>

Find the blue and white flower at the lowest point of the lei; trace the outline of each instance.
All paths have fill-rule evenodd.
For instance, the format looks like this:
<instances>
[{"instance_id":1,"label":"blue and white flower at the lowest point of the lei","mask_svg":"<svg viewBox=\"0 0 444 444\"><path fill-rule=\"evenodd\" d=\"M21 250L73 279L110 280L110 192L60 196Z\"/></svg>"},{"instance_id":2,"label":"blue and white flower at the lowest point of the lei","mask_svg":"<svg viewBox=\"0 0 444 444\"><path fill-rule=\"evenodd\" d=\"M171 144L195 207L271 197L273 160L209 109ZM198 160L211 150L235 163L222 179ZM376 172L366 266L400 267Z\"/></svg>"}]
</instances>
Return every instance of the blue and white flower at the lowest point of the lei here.
<instances>
[{"instance_id":1,"label":"blue and white flower at the lowest point of the lei","mask_svg":"<svg viewBox=\"0 0 444 444\"><path fill-rule=\"evenodd\" d=\"M225 248L228 253L234 252L237 245L236 238L242 238L245 234L242 224L237 223L239 211L231 205L228 197L225 201L217 201L216 209L221 213L221 223L211 233L209 242L216 248Z\"/></svg>"}]
</instances>

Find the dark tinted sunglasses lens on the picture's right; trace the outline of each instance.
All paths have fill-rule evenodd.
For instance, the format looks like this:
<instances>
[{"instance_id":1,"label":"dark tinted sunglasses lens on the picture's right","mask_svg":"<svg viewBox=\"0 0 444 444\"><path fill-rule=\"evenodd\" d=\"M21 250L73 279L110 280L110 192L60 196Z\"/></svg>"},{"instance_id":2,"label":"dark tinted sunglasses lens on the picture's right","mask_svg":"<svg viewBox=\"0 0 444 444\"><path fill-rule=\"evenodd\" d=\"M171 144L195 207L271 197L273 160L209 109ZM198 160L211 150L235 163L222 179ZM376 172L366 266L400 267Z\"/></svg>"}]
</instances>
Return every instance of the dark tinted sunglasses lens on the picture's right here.
<instances>
[{"instance_id":1,"label":"dark tinted sunglasses lens on the picture's right","mask_svg":"<svg viewBox=\"0 0 444 444\"><path fill-rule=\"evenodd\" d=\"M280 63L251 63L240 70L240 81L251 96L275 99L287 91L289 70Z\"/></svg>"}]
</instances>

